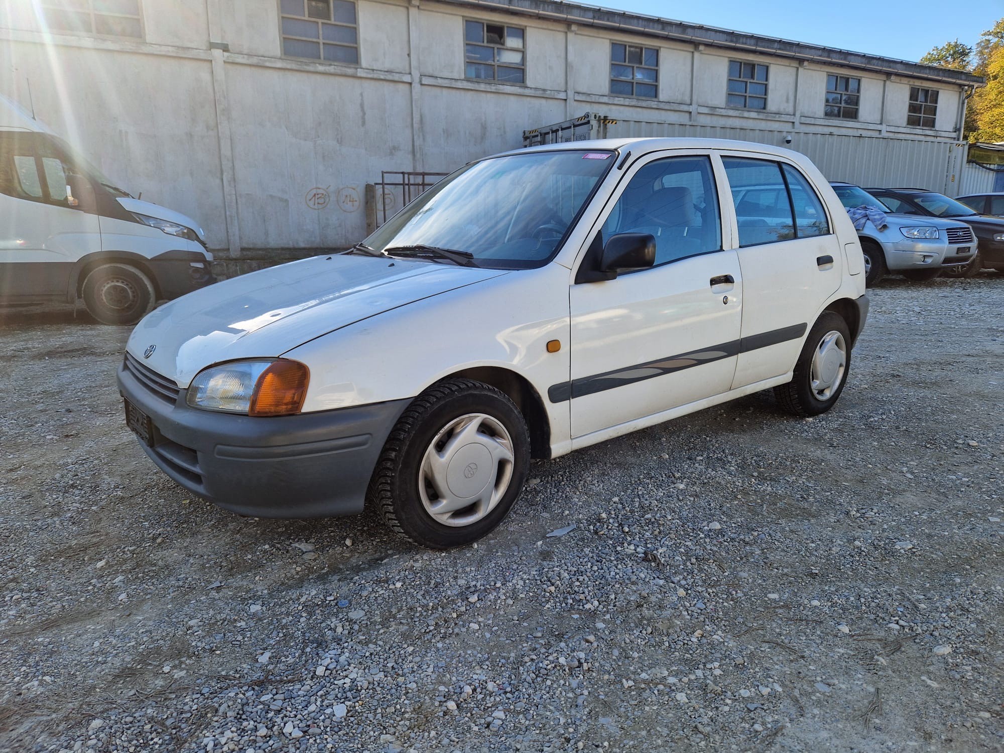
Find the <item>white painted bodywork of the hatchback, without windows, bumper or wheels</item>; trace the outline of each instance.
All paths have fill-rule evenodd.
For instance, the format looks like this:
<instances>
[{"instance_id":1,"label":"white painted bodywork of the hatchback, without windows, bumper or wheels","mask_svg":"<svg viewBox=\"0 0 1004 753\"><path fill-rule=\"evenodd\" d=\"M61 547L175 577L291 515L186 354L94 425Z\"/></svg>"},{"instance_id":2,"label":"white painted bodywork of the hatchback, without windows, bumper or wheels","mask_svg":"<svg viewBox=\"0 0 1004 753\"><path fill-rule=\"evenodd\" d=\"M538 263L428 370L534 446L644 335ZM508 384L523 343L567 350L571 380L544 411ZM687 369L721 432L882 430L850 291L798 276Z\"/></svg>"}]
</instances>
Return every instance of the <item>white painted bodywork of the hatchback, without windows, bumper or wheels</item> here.
<instances>
[{"instance_id":1,"label":"white painted bodywork of the hatchback, without windows, bumper or wheels","mask_svg":"<svg viewBox=\"0 0 1004 753\"><path fill-rule=\"evenodd\" d=\"M525 379L550 424L552 456L783 384L804 333L750 353L719 357L626 387L552 400L552 389L611 368L699 351L790 325L806 330L830 302L864 294L857 234L806 158L716 140L608 140L535 148L620 150L634 159L712 155L723 249L605 282L575 284L594 229L634 163L596 188L550 263L517 271L363 255L294 262L196 291L148 315L128 349L186 388L203 368L250 357L293 358L310 369L303 413L414 398L472 368ZM525 153L521 150L518 153ZM738 248L719 154L797 167L830 215L831 234ZM624 160L628 163L628 160ZM837 211L839 210L839 211ZM832 256L829 265L819 257ZM731 286L710 278L732 275ZM728 302L723 297L728 296ZM557 339L561 348L547 352Z\"/></svg>"}]
</instances>

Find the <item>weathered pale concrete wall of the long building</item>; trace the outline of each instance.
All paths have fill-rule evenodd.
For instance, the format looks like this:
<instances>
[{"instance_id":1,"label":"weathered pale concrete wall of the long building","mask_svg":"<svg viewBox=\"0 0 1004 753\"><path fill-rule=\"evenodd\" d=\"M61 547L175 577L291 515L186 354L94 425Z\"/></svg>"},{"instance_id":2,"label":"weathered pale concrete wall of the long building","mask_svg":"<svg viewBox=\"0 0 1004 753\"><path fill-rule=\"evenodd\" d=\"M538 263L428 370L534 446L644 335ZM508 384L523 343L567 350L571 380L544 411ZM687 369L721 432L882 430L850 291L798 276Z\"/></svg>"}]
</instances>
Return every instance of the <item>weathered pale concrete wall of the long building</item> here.
<instances>
[{"instance_id":1,"label":"weathered pale concrete wall of the long building","mask_svg":"<svg viewBox=\"0 0 1004 753\"><path fill-rule=\"evenodd\" d=\"M902 149L957 136L955 84L497 8L358 0L355 66L283 58L278 0L142 5L145 38L132 40L45 35L30 3L0 0L0 92L33 104L115 182L192 215L212 246L235 252L349 245L365 233L364 186L382 170L449 172L586 110L764 141L895 137ZM526 28L525 85L464 78L464 18ZM658 100L610 95L611 40L659 48ZM730 59L770 66L767 111L726 106ZM823 116L828 72L861 78L858 121ZM906 126L912 84L941 91L936 130Z\"/></svg>"}]
</instances>

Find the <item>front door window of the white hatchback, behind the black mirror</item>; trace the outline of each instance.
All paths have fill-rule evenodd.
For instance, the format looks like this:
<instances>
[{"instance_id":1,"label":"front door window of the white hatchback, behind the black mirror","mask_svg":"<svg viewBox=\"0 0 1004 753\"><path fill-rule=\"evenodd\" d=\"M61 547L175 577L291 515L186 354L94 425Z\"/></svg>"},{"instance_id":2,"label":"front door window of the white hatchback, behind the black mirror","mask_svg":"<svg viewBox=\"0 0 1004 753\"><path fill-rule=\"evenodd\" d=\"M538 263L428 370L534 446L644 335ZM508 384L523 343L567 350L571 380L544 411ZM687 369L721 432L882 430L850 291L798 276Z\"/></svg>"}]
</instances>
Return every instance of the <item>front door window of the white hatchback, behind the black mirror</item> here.
<instances>
[{"instance_id":1,"label":"front door window of the white hatchback, behind the black mirror","mask_svg":"<svg viewBox=\"0 0 1004 753\"><path fill-rule=\"evenodd\" d=\"M711 160L671 157L644 166L603 223L603 243L617 233L651 233L656 238L657 265L721 250Z\"/></svg>"}]
</instances>

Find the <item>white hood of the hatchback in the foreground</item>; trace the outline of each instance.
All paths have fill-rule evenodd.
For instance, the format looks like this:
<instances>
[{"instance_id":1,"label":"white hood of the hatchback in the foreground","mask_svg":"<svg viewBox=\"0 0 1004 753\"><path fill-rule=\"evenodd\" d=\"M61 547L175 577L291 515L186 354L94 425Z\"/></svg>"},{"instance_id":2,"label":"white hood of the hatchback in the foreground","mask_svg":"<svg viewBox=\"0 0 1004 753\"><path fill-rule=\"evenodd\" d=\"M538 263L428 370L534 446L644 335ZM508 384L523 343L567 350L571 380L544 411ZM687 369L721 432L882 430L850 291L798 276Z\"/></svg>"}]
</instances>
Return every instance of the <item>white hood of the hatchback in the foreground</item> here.
<instances>
[{"instance_id":1,"label":"white hood of the hatchback in the foreground","mask_svg":"<svg viewBox=\"0 0 1004 753\"><path fill-rule=\"evenodd\" d=\"M360 319L503 274L345 254L303 259L166 303L137 324L127 350L187 388L213 363L275 357Z\"/></svg>"}]
</instances>

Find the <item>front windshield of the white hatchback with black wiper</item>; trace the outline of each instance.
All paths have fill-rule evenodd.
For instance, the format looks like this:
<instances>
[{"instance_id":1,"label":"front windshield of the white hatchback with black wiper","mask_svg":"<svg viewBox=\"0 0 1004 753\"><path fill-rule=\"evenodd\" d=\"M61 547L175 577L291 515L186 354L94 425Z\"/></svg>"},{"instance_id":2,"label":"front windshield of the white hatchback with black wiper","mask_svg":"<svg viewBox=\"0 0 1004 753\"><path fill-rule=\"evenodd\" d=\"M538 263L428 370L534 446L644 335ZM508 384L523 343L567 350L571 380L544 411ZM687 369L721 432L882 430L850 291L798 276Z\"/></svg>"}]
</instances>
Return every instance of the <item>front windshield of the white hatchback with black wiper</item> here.
<instances>
[{"instance_id":1,"label":"front windshield of the white hatchback with black wiper","mask_svg":"<svg viewBox=\"0 0 1004 753\"><path fill-rule=\"evenodd\" d=\"M495 269L543 266L615 161L612 152L576 150L474 163L405 207L365 245L392 254L417 246L461 251L472 265Z\"/></svg>"}]
</instances>

